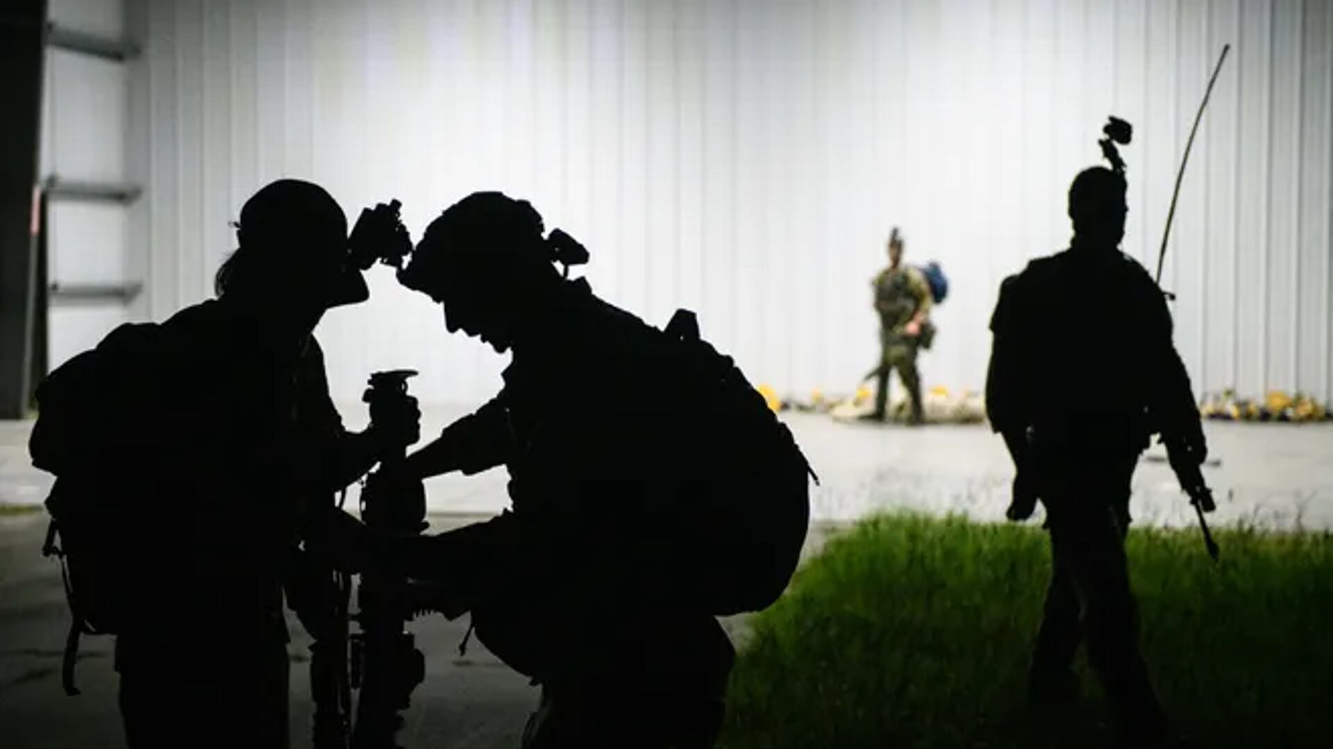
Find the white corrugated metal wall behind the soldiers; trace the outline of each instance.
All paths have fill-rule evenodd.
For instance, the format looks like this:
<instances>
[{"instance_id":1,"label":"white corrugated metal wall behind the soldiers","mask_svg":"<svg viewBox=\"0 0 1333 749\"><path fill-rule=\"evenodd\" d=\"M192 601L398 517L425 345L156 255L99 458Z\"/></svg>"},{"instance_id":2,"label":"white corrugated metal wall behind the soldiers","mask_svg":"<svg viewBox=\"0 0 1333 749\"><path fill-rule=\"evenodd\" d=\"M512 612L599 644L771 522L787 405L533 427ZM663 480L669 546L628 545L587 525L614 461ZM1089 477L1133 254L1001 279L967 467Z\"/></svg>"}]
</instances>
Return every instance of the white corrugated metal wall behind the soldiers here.
<instances>
[{"instance_id":1,"label":"white corrugated metal wall behind the soldiers","mask_svg":"<svg viewBox=\"0 0 1333 749\"><path fill-rule=\"evenodd\" d=\"M901 225L952 279L928 384L978 388L996 287L1064 247L1106 115L1136 127L1125 249L1156 263L1224 43L1165 285L1200 386L1330 393L1333 4L355 0L133 4L151 313L208 295L227 221L303 176L413 233L475 189L583 239L607 299L677 305L756 381L846 389L877 356L869 279ZM147 81L144 84L144 81ZM336 394L421 368L476 401L504 361L373 273L321 335Z\"/></svg>"}]
</instances>

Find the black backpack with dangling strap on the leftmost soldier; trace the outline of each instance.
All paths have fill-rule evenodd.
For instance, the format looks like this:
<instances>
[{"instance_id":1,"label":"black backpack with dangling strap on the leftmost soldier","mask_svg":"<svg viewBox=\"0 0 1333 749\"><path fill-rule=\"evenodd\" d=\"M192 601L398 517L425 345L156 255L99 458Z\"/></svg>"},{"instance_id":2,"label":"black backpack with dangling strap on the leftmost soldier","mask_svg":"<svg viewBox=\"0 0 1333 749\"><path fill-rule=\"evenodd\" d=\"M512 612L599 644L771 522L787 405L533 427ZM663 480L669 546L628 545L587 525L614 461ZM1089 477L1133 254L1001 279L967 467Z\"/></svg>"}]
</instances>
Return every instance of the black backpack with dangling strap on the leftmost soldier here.
<instances>
[{"instance_id":1,"label":"black backpack with dangling strap on the leftmost soldier","mask_svg":"<svg viewBox=\"0 0 1333 749\"><path fill-rule=\"evenodd\" d=\"M37 388L37 421L28 440L33 466L56 476L47 497L41 553L60 560L69 605L61 678L79 694L73 669L83 634L116 634L133 601L136 542L127 505L133 477L127 450L141 417L145 356L156 325L125 324L96 348L56 368Z\"/></svg>"}]
</instances>

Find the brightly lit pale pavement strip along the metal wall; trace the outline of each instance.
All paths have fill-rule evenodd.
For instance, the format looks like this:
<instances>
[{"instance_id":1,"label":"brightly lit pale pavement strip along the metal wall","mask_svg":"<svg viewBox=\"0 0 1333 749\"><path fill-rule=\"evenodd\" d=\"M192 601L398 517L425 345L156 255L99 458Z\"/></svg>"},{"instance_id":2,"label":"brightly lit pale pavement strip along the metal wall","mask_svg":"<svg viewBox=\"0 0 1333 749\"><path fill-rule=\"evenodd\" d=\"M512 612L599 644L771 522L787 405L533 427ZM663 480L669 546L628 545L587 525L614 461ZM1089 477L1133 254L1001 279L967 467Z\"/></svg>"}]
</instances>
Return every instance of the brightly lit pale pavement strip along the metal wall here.
<instances>
[{"instance_id":1,"label":"brightly lit pale pavement strip along the metal wall","mask_svg":"<svg viewBox=\"0 0 1333 749\"><path fill-rule=\"evenodd\" d=\"M347 408L348 425L364 406ZM423 432L437 433L457 409L428 409ZM869 512L913 508L1001 520L1013 469L1004 442L985 426L838 424L826 416L784 414L822 480L812 494L817 520L848 521ZM1205 469L1217 494L1213 521L1269 528L1333 528L1333 424L1206 424L1220 465ZM28 425L0 421L0 505L37 504L51 478L28 465ZM1189 525L1161 448L1134 476L1133 513L1141 522ZM1157 460L1158 462L1154 462ZM427 484L432 512L492 514L508 505L504 470L445 476ZM352 500L355 501L355 490Z\"/></svg>"}]
</instances>

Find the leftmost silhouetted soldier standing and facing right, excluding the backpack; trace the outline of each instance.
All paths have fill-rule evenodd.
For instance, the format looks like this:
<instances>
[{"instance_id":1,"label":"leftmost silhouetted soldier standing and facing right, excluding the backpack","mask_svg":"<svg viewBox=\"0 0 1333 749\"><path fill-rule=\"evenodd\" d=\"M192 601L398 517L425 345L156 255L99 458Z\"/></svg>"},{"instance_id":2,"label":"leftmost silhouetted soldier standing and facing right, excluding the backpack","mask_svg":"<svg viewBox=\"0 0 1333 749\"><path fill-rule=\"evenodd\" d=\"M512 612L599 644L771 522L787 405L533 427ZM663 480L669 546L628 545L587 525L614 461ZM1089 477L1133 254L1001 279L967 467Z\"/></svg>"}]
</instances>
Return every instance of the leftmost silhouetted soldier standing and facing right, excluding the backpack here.
<instances>
[{"instance_id":1,"label":"leftmost silhouetted soldier standing and facing right, excluding the backpack","mask_svg":"<svg viewBox=\"0 0 1333 749\"><path fill-rule=\"evenodd\" d=\"M136 749L288 745L283 584L303 524L419 430L405 404L348 433L329 400L312 332L325 309L368 296L337 203L272 183L236 237L219 299L153 329L129 414L144 548L116 665ZM317 613L299 612L317 636Z\"/></svg>"}]
</instances>

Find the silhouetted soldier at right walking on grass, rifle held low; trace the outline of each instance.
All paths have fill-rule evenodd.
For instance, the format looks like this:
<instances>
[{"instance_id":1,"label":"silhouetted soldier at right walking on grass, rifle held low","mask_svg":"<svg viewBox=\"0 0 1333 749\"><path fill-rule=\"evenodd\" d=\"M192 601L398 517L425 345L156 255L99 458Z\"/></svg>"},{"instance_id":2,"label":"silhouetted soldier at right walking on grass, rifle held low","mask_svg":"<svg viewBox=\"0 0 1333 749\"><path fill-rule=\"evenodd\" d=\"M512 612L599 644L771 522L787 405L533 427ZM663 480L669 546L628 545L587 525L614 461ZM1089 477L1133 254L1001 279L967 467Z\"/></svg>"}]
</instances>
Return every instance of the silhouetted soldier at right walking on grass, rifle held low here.
<instances>
[{"instance_id":1,"label":"silhouetted soldier at right walking on grass, rifle held low","mask_svg":"<svg viewBox=\"0 0 1333 749\"><path fill-rule=\"evenodd\" d=\"M1129 745L1168 741L1138 652L1125 558L1130 477L1152 433L1205 453L1161 289L1118 251L1125 180L1090 168L1069 188L1066 252L1004 281L986 406L1017 476L1012 520L1046 508L1053 570L1030 670L1034 706L1077 696L1081 640Z\"/></svg>"}]
</instances>

